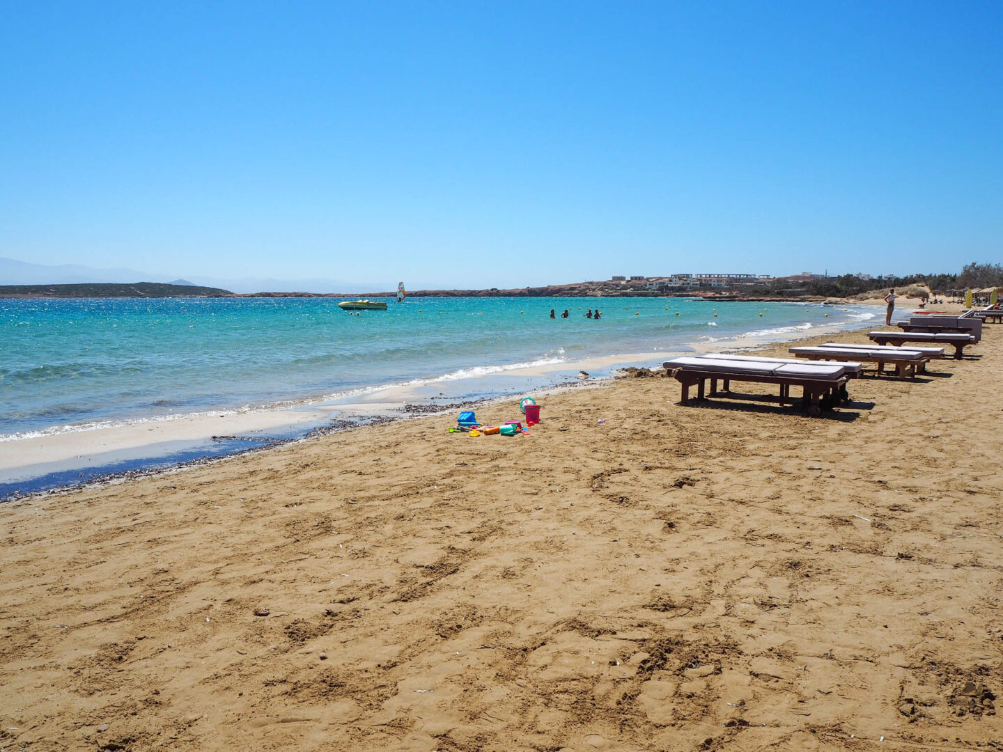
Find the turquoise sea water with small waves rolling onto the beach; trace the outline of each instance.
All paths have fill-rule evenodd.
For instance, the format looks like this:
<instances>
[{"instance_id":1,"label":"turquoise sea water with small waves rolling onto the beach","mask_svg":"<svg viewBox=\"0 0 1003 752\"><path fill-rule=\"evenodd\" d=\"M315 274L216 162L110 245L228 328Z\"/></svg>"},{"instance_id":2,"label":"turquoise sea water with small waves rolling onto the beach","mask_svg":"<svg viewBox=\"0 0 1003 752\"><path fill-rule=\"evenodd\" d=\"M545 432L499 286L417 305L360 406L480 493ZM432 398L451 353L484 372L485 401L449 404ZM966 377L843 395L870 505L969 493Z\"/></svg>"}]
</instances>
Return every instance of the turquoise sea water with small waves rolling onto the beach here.
<instances>
[{"instance_id":1,"label":"turquoise sea water with small waves rolling onto the beach","mask_svg":"<svg viewBox=\"0 0 1003 752\"><path fill-rule=\"evenodd\" d=\"M386 311L356 316L338 302L0 300L0 441L394 384L473 384L597 356L650 353L654 363L687 345L767 342L875 316L864 306L664 298L388 299ZM589 308L602 318L585 318Z\"/></svg>"}]
</instances>

